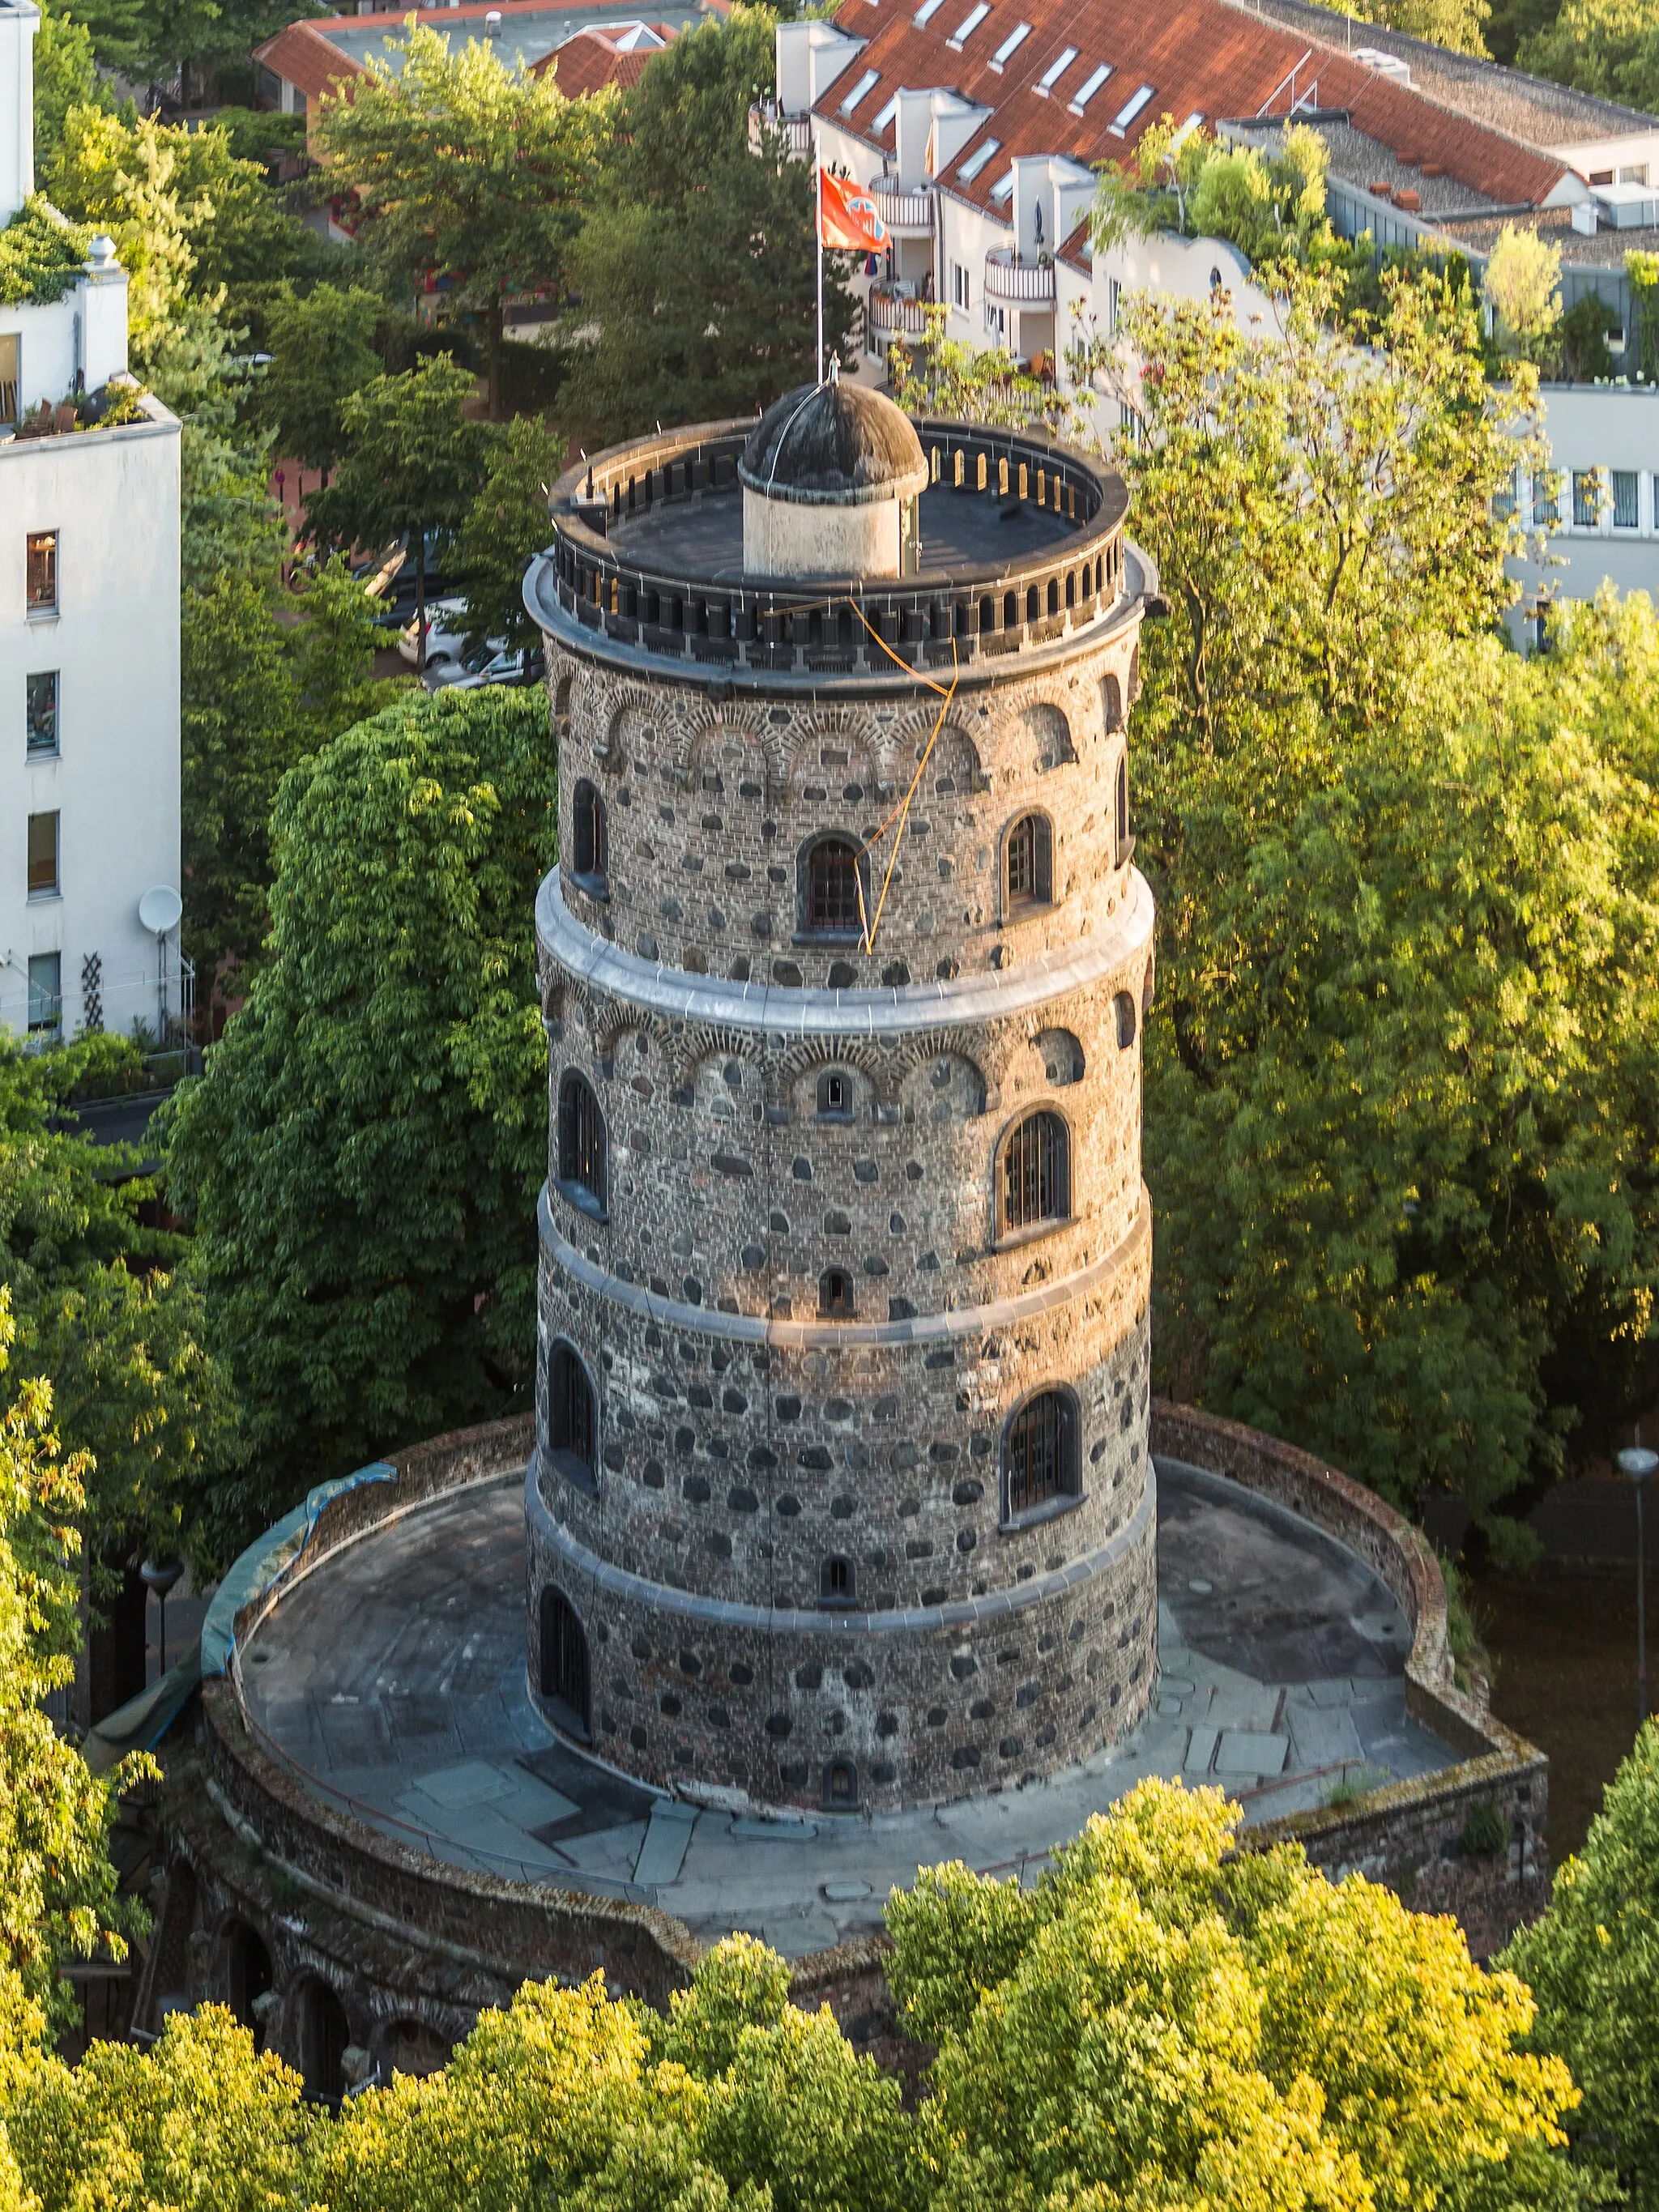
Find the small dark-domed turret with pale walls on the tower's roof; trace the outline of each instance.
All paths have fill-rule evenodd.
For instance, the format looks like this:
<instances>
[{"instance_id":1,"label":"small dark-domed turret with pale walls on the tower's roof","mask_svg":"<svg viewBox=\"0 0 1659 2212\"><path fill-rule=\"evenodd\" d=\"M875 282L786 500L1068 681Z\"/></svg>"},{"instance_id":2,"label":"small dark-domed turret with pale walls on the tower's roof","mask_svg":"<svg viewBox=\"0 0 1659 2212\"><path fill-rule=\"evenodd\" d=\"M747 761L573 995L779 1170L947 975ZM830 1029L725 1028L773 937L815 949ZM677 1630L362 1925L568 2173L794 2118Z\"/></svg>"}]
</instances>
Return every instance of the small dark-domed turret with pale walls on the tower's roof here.
<instances>
[{"instance_id":1,"label":"small dark-domed turret with pale walls on the tower's roof","mask_svg":"<svg viewBox=\"0 0 1659 2212\"><path fill-rule=\"evenodd\" d=\"M843 385L787 392L737 465L748 575L914 575L922 445L889 398Z\"/></svg>"}]
</instances>

